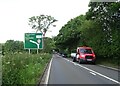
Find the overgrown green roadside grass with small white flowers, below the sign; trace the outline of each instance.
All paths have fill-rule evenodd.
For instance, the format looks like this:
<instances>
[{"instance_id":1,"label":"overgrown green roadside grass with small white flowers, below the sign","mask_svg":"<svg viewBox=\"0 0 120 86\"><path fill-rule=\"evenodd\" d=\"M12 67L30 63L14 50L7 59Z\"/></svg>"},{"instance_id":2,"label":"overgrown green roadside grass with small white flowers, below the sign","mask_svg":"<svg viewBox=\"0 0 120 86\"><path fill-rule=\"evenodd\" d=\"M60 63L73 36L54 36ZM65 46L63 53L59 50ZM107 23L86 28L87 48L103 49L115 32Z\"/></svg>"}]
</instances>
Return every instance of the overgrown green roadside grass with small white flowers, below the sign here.
<instances>
[{"instance_id":1,"label":"overgrown green roadside grass with small white flowers, below the sign","mask_svg":"<svg viewBox=\"0 0 120 86\"><path fill-rule=\"evenodd\" d=\"M2 85L36 85L51 57L52 55L48 53L30 55L16 53L3 56Z\"/></svg>"}]
</instances>

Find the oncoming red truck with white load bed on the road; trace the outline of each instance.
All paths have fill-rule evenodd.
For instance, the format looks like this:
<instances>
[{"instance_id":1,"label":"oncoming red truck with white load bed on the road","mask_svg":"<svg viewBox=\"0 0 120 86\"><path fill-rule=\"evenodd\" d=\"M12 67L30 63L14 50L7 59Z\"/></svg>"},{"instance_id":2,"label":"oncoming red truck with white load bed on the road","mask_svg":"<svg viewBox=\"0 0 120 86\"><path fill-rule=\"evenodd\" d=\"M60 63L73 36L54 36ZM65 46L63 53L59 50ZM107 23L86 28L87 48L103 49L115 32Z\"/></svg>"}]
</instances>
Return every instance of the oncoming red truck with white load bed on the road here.
<instances>
[{"instance_id":1,"label":"oncoming red truck with white load bed on the road","mask_svg":"<svg viewBox=\"0 0 120 86\"><path fill-rule=\"evenodd\" d=\"M73 62L78 61L79 63L83 62L92 62L95 64L95 54L91 47L78 47L76 57L73 58Z\"/></svg>"}]
</instances>

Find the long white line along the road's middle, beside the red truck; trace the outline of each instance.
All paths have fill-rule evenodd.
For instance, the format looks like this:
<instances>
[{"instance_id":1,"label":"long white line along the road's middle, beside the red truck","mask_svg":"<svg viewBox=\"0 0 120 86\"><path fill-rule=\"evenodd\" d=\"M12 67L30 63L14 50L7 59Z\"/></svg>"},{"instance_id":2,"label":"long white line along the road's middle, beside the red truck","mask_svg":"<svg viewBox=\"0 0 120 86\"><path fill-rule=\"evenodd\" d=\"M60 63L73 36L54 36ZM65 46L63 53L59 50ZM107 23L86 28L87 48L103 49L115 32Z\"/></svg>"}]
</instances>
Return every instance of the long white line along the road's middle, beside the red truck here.
<instances>
[{"instance_id":1,"label":"long white line along the road's middle, beside the red truck","mask_svg":"<svg viewBox=\"0 0 120 86\"><path fill-rule=\"evenodd\" d=\"M65 58L64 58L64 59L65 59ZM67 60L67 59L65 59L65 60ZM72 62L72 61L70 61L70 60L69 60L69 62L78 65L77 63ZM111 80L111 81L113 81L113 82L115 82L115 83L117 83L117 84L120 84L119 81L114 80L114 79L112 79L112 78L110 78L110 77L108 77L108 76L105 76L105 75L101 74L101 73L98 73L98 72L96 72L96 71L94 71L94 70L91 70L91 69L89 69L89 68L87 68L87 67L84 67L84 66L82 66L82 65L80 65L80 64L79 64L78 66L79 66L79 67L82 67L82 68L84 68L84 69L86 69L86 70L88 70L88 71L90 71L90 72L92 72L92 73L98 74L99 76L102 76L102 77L104 77L104 78L106 78L106 79L108 79L108 80Z\"/></svg>"}]
</instances>

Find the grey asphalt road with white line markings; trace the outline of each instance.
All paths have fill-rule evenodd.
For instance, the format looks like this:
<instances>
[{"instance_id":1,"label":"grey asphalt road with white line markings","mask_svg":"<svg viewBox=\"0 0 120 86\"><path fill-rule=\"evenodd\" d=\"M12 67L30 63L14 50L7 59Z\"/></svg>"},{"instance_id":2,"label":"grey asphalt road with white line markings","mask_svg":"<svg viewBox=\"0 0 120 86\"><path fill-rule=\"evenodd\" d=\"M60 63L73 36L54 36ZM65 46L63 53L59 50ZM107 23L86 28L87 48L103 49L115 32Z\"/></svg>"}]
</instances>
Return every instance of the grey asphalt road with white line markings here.
<instances>
[{"instance_id":1,"label":"grey asphalt road with white line markings","mask_svg":"<svg viewBox=\"0 0 120 86\"><path fill-rule=\"evenodd\" d=\"M54 54L48 84L115 84L118 71L92 64L79 64Z\"/></svg>"}]
</instances>

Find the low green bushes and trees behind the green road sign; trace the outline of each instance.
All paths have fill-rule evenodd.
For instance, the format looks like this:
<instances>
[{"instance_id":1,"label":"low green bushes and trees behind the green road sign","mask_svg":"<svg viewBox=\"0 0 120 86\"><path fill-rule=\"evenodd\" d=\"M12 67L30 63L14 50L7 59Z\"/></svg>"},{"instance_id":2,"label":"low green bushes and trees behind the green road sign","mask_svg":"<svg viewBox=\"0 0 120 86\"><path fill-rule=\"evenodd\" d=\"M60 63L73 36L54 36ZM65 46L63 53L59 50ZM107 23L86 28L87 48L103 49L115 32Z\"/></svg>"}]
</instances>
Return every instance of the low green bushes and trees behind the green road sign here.
<instances>
[{"instance_id":1,"label":"low green bushes and trees behind the green road sign","mask_svg":"<svg viewBox=\"0 0 120 86\"><path fill-rule=\"evenodd\" d=\"M39 50L39 52L51 53L51 51L55 48L55 43L53 38L44 38L44 48ZM14 41L7 40L5 44L1 44L2 54L7 53L20 53L20 52L28 52L28 50L24 49L24 43L22 41ZM31 49L32 54L36 54L35 49Z\"/></svg>"}]
</instances>

